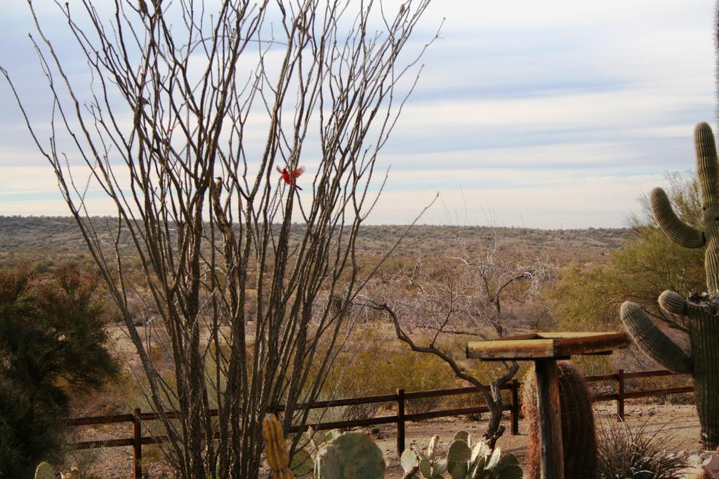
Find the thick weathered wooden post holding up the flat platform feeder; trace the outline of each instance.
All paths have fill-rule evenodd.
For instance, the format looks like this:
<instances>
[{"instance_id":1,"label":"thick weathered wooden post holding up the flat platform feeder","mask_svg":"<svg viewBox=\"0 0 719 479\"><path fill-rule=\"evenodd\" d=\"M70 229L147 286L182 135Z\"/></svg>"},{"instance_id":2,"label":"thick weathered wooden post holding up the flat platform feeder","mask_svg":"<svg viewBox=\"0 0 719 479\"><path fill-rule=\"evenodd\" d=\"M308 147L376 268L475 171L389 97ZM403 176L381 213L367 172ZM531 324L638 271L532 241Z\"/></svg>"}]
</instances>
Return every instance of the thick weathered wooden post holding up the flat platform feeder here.
<instances>
[{"instance_id":1,"label":"thick weathered wooden post holding up the flat platform feeder","mask_svg":"<svg viewBox=\"0 0 719 479\"><path fill-rule=\"evenodd\" d=\"M553 358L534 361L539 416L541 479L564 479L562 410L559 406L559 370Z\"/></svg>"}]
</instances>

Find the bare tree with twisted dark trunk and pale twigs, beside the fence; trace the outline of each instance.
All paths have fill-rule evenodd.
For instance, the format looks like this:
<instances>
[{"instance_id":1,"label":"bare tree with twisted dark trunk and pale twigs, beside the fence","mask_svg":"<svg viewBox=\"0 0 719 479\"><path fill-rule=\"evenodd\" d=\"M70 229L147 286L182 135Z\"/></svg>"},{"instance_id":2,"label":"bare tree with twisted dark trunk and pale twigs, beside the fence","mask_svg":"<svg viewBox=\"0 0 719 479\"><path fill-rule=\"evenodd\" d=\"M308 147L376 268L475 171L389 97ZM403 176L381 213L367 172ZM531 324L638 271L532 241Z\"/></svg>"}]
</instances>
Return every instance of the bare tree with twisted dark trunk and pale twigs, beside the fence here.
<instances>
[{"instance_id":1,"label":"bare tree with twisted dark trunk and pale twigs, beside the fence","mask_svg":"<svg viewBox=\"0 0 719 479\"><path fill-rule=\"evenodd\" d=\"M508 314L503 304L536 299L551 269L545 261L500 253L495 241L483 254L473 256L458 242L457 254L416 264L389 279L373 280L367 296L372 307L383 310L395 327L397 338L419 353L445 361L455 376L477 386L490 409L485 439L494 447L505 427L502 386L517 373L515 361L503 363L496 378L477 378L452 351L446 349L452 335L482 339L505 334Z\"/></svg>"}]
</instances>

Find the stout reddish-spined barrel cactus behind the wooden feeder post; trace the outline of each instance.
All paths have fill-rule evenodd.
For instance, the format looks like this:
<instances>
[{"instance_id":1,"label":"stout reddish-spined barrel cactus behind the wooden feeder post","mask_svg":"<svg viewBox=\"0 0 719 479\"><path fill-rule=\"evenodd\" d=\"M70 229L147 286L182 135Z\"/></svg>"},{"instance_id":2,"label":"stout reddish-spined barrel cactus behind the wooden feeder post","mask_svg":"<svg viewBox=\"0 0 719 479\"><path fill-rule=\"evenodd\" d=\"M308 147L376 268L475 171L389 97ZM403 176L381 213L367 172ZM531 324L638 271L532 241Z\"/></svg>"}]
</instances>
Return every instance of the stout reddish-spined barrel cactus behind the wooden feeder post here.
<instances>
[{"instance_id":1,"label":"stout reddish-spined barrel cactus behind the wooden feeder post","mask_svg":"<svg viewBox=\"0 0 719 479\"><path fill-rule=\"evenodd\" d=\"M572 363L559 368L559 406L562 410L564 477L593 479L597 475L597 440L594 430L592 396L582 374ZM531 371L524 383L522 409L527 420L527 477L539 479L539 417L537 415L536 376Z\"/></svg>"}]
</instances>

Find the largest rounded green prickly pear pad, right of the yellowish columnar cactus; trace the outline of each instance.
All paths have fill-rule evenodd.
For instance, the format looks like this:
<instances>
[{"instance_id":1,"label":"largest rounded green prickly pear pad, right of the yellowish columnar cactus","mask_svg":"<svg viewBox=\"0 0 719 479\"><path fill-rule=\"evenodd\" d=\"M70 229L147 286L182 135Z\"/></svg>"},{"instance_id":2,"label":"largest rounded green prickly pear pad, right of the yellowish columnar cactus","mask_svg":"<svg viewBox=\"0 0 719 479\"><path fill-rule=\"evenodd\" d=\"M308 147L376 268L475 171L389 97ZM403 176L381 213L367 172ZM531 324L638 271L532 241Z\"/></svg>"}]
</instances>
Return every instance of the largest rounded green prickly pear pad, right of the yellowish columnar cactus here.
<instances>
[{"instance_id":1,"label":"largest rounded green prickly pear pad, right of the yellowish columnar cactus","mask_svg":"<svg viewBox=\"0 0 719 479\"><path fill-rule=\"evenodd\" d=\"M385 477L382 450L362 432L337 434L321 445L315 459L316 479L380 479Z\"/></svg>"}]
</instances>

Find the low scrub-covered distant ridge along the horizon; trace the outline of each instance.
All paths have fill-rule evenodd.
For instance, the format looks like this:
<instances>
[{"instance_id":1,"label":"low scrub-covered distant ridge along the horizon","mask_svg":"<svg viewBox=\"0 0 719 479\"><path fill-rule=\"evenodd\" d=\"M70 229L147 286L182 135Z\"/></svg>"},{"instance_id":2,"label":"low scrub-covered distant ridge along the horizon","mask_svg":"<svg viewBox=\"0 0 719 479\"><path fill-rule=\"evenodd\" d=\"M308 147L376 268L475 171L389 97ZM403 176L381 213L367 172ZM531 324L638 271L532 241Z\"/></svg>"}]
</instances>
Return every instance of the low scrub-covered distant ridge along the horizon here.
<instances>
[{"instance_id":1,"label":"low scrub-covered distant ridge along the horizon","mask_svg":"<svg viewBox=\"0 0 719 479\"><path fill-rule=\"evenodd\" d=\"M114 218L95 218L106 229L104 239L111 240ZM359 232L359 250L368 257L382 256L406 231L406 225L366 225ZM296 225L293 234L304 228ZM591 261L606 256L631 235L626 228L587 228L541 230L532 228L490 228L487 226L416 225L395 251L395 256L445 254L462 244L471 254L481 254L496 244L500 250L522 252L559 262L577 259ZM122 250L132 253L129 238L123 238ZM85 241L73 218L51 216L0 216L0 259L88 259Z\"/></svg>"}]
</instances>

